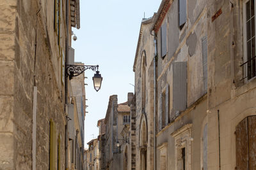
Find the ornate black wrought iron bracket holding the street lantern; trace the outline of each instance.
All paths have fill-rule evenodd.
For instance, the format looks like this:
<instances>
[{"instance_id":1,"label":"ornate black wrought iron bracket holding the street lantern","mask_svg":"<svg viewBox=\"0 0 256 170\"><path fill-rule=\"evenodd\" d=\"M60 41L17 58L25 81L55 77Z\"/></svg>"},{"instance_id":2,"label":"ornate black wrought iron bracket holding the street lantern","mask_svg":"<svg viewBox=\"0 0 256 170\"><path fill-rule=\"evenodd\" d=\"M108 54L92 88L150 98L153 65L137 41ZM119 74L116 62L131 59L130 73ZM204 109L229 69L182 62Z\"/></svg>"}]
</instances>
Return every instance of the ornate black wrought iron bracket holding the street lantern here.
<instances>
[{"instance_id":1,"label":"ornate black wrought iron bracket holding the street lantern","mask_svg":"<svg viewBox=\"0 0 256 170\"><path fill-rule=\"evenodd\" d=\"M79 76L87 69L91 69L92 71L98 71L99 65L97 66L67 65L66 75L69 76L69 79L71 80L73 77Z\"/></svg>"}]
</instances>

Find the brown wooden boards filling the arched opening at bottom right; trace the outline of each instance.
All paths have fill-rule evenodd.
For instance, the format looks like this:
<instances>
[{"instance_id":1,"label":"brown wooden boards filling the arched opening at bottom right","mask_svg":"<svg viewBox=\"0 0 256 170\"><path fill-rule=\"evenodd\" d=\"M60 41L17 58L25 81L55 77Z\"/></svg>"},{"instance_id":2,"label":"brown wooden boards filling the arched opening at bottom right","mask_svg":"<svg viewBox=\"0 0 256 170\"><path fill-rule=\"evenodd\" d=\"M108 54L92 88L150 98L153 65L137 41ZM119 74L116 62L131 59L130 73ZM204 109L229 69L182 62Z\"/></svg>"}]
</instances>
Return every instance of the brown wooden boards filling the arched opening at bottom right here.
<instances>
[{"instance_id":1,"label":"brown wooden boards filling the arched opening at bottom right","mask_svg":"<svg viewBox=\"0 0 256 170\"><path fill-rule=\"evenodd\" d=\"M256 169L256 116L236 126L236 169Z\"/></svg>"}]
</instances>

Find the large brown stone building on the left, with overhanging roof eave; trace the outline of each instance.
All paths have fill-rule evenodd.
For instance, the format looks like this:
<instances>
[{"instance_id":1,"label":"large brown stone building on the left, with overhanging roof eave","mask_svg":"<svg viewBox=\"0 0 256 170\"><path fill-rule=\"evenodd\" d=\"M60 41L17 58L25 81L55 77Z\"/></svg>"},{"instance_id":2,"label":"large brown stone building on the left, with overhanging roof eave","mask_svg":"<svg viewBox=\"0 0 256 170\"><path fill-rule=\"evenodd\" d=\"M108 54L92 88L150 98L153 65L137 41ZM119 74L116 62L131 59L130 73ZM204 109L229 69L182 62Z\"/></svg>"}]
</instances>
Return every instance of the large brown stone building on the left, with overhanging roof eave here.
<instances>
[{"instance_id":1,"label":"large brown stone building on the left, with overhanging roof eave","mask_svg":"<svg viewBox=\"0 0 256 170\"><path fill-rule=\"evenodd\" d=\"M0 169L71 169L67 117L76 97L65 64L74 62L79 0L0 1L0 13Z\"/></svg>"}]
</instances>

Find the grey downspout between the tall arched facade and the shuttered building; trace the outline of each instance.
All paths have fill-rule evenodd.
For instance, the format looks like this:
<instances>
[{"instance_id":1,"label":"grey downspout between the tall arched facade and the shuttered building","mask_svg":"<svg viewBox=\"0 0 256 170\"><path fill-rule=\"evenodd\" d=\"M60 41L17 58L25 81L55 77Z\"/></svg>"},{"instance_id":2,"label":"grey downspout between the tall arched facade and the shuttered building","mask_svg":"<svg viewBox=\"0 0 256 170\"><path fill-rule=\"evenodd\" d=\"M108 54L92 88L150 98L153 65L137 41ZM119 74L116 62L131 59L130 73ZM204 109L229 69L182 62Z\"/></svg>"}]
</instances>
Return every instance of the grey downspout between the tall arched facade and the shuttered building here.
<instances>
[{"instance_id":1,"label":"grey downspout between the tall arched facade and the shuttered building","mask_svg":"<svg viewBox=\"0 0 256 170\"><path fill-rule=\"evenodd\" d=\"M151 32L150 32L151 34ZM155 32L151 34L154 36L154 46L155 46L155 52L154 52L154 170L156 170L156 63L157 63L157 39Z\"/></svg>"}]
</instances>

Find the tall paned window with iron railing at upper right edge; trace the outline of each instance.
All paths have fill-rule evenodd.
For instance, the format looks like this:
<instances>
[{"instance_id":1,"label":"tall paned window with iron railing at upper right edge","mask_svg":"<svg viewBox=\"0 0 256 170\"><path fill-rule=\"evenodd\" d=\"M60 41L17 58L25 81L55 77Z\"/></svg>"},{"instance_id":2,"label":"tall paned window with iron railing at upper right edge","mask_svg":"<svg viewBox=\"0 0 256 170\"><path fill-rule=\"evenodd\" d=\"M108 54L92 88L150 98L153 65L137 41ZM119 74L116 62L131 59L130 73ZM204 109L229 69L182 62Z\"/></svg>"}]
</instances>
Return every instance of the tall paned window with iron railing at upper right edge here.
<instances>
[{"instance_id":1,"label":"tall paned window with iron railing at upper right edge","mask_svg":"<svg viewBox=\"0 0 256 170\"><path fill-rule=\"evenodd\" d=\"M256 76L255 62L255 3L254 0L244 1L244 63L243 79Z\"/></svg>"}]
</instances>

